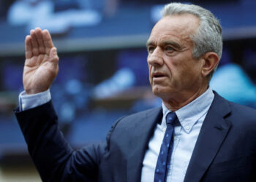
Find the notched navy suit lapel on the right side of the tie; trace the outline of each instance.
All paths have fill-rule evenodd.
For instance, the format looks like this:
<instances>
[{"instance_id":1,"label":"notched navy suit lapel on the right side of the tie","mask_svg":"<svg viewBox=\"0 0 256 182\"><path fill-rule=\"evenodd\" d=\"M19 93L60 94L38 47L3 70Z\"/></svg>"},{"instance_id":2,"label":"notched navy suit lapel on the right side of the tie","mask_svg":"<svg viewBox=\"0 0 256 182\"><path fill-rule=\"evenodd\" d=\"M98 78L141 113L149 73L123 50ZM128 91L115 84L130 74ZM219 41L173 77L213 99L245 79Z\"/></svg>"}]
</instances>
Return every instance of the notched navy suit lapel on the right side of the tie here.
<instances>
[{"instance_id":1,"label":"notched navy suit lapel on the right side of the tie","mask_svg":"<svg viewBox=\"0 0 256 182\"><path fill-rule=\"evenodd\" d=\"M184 182L200 181L230 130L231 123L224 119L230 113L230 106L227 100L216 92L214 94L214 101L198 135Z\"/></svg>"}]
</instances>

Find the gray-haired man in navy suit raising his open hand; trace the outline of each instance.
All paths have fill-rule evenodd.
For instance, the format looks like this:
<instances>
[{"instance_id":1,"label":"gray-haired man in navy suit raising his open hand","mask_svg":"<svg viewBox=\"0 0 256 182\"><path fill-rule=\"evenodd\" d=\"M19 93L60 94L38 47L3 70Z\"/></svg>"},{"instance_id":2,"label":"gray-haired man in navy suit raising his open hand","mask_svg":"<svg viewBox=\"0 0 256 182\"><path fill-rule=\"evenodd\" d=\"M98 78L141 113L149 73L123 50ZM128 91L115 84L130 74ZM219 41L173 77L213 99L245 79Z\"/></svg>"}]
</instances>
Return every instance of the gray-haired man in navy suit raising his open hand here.
<instances>
[{"instance_id":1,"label":"gray-haired man in navy suit raising his open hand","mask_svg":"<svg viewBox=\"0 0 256 182\"><path fill-rule=\"evenodd\" d=\"M163 15L147 42L162 107L119 119L105 143L78 151L59 132L50 102L56 47L48 31L26 37L25 92L15 114L43 181L256 180L255 110L208 87L222 55L218 20L188 4L167 4Z\"/></svg>"}]
</instances>

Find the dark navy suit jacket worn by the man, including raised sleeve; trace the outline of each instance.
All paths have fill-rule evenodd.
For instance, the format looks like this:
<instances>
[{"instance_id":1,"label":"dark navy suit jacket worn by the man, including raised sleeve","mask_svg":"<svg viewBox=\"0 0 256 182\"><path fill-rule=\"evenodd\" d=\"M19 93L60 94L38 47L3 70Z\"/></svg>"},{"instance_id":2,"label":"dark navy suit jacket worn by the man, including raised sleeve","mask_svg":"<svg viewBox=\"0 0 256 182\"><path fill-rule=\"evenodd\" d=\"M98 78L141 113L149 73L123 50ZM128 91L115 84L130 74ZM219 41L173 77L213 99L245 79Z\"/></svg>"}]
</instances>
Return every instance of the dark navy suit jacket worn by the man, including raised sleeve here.
<instances>
[{"instance_id":1,"label":"dark navy suit jacket worn by the man, including raised sleeve","mask_svg":"<svg viewBox=\"0 0 256 182\"><path fill-rule=\"evenodd\" d=\"M214 94L184 181L256 181L256 110ZM162 108L119 119L105 143L78 151L59 131L51 102L15 114L42 181L136 182Z\"/></svg>"}]
</instances>

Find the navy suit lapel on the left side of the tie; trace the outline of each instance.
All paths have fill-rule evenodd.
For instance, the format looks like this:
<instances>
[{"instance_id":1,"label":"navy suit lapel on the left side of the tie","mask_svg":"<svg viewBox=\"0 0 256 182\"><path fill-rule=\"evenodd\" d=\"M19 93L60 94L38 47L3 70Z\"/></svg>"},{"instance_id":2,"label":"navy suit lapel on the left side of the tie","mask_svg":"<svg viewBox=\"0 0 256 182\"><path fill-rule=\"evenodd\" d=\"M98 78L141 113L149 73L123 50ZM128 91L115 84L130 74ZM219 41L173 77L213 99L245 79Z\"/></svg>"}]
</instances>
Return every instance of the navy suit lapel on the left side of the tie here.
<instances>
[{"instance_id":1,"label":"navy suit lapel on the left side of the tie","mask_svg":"<svg viewBox=\"0 0 256 182\"><path fill-rule=\"evenodd\" d=\"M129 146L131 153L127 159L128 182L140 181L144 155L159 119L162 119L162 108L155 108L146 112L136 122L135 130L132 131L132 141Z\"/></svg>"}]
</instances>

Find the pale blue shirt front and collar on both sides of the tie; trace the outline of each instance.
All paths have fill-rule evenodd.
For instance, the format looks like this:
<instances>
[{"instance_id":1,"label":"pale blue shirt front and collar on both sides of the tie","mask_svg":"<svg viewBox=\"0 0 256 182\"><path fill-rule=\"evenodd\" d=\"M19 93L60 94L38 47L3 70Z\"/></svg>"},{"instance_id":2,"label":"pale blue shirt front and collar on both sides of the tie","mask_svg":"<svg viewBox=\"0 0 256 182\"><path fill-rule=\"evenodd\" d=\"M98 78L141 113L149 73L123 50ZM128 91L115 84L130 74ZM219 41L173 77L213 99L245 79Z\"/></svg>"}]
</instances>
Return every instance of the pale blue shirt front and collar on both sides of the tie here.
<instances>
[{"instance_id":1,"label":"pale blue shirt front and collar on both sides of the tie","mask_svg":"<svg viewBox=\"0 0 256 182\"><path fill-rule=\"evenodd\" d=\"M206 114L213 100L214 93L211 88L208 88L203 95L200 95L200 97L176 111L181 125L174 128L173 152L170 157L167 181L184 181L203 120L206 118ZM162 111L162 123L157 124L143 159L141 173L142 182L154 181L154 170L157 165L158 154L166 130L165 117L170 112L164 104L162 104Z\"/></svg>"}]
</instances>

